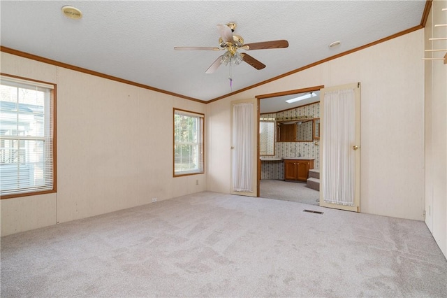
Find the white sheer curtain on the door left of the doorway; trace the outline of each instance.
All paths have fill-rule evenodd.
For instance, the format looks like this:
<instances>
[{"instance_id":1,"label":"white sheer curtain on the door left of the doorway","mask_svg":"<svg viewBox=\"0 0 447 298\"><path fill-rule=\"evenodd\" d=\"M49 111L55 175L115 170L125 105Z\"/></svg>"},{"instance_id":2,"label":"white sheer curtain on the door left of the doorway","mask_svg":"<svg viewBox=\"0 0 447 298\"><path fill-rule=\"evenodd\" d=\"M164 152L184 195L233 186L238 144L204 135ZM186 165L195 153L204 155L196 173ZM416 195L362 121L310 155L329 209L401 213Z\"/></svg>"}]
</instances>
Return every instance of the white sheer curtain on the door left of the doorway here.
<instances>
[{"instance_id":1,"label":"white sheer curtain on the door left of the doorway","mask_svg":"<svg viewBox=\"0 0 447 298\"><path fill-rule=\"evenodd\" d=\"M254 104L241 103L233 106L233 190L253 192L254 173L251 156Z\"/></svg>"}]
</instances>

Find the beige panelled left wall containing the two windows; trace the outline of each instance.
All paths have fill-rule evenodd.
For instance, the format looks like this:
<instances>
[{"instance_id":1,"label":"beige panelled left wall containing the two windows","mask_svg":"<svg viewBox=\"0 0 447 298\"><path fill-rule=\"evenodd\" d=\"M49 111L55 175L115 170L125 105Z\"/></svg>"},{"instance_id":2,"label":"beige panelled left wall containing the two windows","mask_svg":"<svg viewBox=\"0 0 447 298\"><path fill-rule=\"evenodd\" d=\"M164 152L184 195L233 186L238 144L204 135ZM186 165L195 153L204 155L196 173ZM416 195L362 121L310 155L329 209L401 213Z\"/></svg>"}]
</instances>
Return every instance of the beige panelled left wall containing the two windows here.
<instances>
[{"instance_id":1,"label":"beige panelled left wall containing the two windows","mask_svg":"<svg viewBox=\"0 0 447 298\"><path fill-rule=\"evenodd\" d=\"M206 189L173 178L173 108L205 104L3 52L1 72L57 84L57 194L2 199L1 236Z\"/></svg>"}]
</instances>

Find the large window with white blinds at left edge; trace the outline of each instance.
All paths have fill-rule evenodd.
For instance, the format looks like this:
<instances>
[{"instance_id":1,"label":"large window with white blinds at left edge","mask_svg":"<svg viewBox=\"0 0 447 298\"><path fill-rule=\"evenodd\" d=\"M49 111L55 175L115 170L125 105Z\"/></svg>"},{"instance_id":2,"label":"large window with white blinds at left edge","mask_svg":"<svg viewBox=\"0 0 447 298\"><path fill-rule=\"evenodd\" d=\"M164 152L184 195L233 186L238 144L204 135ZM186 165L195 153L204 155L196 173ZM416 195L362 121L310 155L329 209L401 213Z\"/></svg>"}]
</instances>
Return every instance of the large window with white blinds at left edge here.
<instances>
[{"instance_id":1,"label":"large window with white blinds at left edge","mask_svg":"<svg viewBox=\"0 0 447 298\"><path fill-rule=\"evenodd\" d=\"M2 75L0 88L1 198L55 192L55 86Z\"/></svg>"}]
</instances>

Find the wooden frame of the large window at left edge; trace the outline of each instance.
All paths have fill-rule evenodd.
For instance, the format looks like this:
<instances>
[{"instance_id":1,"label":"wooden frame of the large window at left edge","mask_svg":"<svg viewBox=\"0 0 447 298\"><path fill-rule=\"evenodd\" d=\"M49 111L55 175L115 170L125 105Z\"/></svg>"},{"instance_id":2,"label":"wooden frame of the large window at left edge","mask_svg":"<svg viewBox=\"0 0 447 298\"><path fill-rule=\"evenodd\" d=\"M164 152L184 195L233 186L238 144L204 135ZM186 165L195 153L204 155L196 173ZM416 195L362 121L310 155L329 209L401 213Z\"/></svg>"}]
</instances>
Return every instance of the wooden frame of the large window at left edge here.
<instances>
[{"instance_id":1,"label":"wooden frame of the large window at left edge","mask_svg":"<svg viewBox=\"0 0 447 298\"><path fill-rule=\"evenodd\" d=\"M34 80L31 78L24 78L21 76L14 76L10 75L8 73L1 73L0 76L2 80L10 80L10 81L18 81L22 82L24 84L29 85L35 85L36 87L42 87L42 85L48 85L52 86L47 87L48 90L50 90L50 120L52 120L52 123L50 124L50 140L51 140L51 146L52 146L52 188L48 190L32 190L27 192L26 189L24 189L25 192L16 192L14 194L1 194L0 199L11 199L11 198L17 198L17 197L28 197L28 196L36 196L40 194L50 194L57 192L57 84L45 82L43 80ZM45 122L47 122L47 115L45 117ZM51 132L52 129L52 132ZM45 131L45 129L44 129ZM47 135L44 134L43 137L36 137L36 139L42 139L47 138ZM0 137L1 139L1 137ZM8 138L10 139L10 138ZM19 138L20 139L20 138ZM1 139L1 140L7 140L7 139ZM32 139L30 139L32 141Z\"/></svg>"}]
</instances>

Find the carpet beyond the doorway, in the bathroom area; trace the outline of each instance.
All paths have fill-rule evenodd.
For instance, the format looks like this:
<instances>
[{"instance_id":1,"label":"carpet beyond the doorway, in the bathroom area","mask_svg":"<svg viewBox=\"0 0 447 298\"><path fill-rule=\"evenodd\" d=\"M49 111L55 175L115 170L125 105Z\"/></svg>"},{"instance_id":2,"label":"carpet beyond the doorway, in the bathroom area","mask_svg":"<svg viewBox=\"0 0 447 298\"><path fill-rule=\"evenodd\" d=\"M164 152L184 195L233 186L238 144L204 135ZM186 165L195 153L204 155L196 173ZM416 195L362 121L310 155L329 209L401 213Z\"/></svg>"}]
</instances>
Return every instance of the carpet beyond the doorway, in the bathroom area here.
<instances>
[{"instance_id":1,"label":"carpet beyond the doorway, in the bathroom area","mask_svg":"<svg viewBox=\"0 0 447 298\"><path fill-rule=\"evenodd\" d=\"M307 187L306 183L273 179L260 180L259 194L263 198L296 201L309 205L319 205L317 200L320 199L320 192Z\"/></svg>"}]
</instances>

